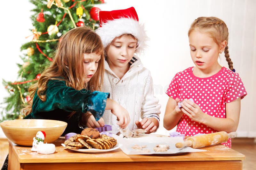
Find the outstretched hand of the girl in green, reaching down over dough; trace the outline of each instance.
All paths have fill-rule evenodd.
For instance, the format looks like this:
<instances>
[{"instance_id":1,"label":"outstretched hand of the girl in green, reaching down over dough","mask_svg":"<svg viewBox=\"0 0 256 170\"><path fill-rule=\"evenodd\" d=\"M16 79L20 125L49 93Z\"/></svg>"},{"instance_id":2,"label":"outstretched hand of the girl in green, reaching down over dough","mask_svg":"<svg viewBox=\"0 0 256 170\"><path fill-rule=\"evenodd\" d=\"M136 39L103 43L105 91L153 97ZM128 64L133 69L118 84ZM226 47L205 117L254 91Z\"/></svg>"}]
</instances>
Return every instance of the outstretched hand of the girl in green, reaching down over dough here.
<instances>
[{"instance_id":1,"label":"outstretched hand of the girl in green, reaching down over dough","mask_svg":"<svg viewBox=\"0 0 256 170\"><path fill-rule=\"evenodd\" d=\"M115 103L111 112L116 116L117 125L119 125L121 128L128 126L130 123L129 113L120 104Z\"/></svg>"}]
</instances>

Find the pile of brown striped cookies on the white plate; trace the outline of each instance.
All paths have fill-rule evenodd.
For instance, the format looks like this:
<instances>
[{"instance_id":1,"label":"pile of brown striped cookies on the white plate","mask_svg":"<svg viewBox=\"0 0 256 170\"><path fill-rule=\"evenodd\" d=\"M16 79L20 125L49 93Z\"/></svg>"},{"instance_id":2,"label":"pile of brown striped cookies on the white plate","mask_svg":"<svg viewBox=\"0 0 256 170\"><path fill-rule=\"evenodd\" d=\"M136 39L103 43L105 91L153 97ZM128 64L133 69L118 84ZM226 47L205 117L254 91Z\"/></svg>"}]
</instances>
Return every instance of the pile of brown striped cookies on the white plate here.
<instances>
[{"instance_id":1,"label":"pile of brown striped cookies on the white plate","mask_svg":"<svg viewBox=\"0 0 256 170\"><path fill-rule=\"evenodd\" d=\"M92 128L87 128L86 131L93 131L94 135L84 135L85 133L83 132L76 134L64 142L65 147L70 149L110 149L117 144L115 138L107 135L95 135L94 130L96 129L91 129Z\"/></svg>"}]
</instances>

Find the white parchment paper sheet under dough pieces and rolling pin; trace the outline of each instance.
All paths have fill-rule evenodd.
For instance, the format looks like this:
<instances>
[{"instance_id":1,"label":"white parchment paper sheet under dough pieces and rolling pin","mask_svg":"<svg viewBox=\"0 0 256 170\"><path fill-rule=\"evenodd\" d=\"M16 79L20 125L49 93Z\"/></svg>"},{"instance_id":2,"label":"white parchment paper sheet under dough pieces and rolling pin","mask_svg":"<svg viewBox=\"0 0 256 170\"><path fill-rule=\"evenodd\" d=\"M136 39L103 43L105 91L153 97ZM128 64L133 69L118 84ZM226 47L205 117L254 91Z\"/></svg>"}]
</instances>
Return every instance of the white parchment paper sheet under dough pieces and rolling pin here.
<instances>
[{"instance_id":1,"label":"white parchment paper sheet under dough pieces and rolling pin","mask_svg":"<svg viewBox=\"0 0 256 170\"><path fill-rule=\"evenodd\" d=\"M174 154L174 153L182 153L182 152L205 152L206 150L202 149L193 149L191 147L184 148L176 148L175 144L177 142L183 142L182 137L157 137L157 135L143 135L144 137L140 138L123 138L122 136L113 135L114 138L117 139L119 144L122 144L120 149L127 155L148 155L148 154ZM146 137L145 137L146 136ZM133 145L147 145L146 148L150 152L143 152L141 150L132 149ZM169 149L167 152L155 152L154 147L156 145L163 144L169 145Z\"/></svg>"}]
</instances>

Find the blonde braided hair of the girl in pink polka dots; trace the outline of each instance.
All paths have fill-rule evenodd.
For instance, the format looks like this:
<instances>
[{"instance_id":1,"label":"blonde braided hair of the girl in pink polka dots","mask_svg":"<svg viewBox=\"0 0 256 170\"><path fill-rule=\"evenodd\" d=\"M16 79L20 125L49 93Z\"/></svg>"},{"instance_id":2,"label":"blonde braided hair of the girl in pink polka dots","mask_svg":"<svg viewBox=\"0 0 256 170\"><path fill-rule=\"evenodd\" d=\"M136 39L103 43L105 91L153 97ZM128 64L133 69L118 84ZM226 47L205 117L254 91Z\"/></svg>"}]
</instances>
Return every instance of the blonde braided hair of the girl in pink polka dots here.
<instances>
[{"instance_id":1,"label":"blonde braided hair of the girl in pink polka dots","mask_svg":"<svg viewBox=\"0 0 256 170\"><path fill-rule=\"evenodd\" d=\"M228 62L229 69L234 71L233 62L229 58L228 53L228 27L225 22L216 17L199 17L191 24L188 31L188 37L190 33L196 29L209 34L218 46L220 46L220 43L224 40L227 41L227 46L224 50L225 58Z\"/></svg>"}]
</instances>

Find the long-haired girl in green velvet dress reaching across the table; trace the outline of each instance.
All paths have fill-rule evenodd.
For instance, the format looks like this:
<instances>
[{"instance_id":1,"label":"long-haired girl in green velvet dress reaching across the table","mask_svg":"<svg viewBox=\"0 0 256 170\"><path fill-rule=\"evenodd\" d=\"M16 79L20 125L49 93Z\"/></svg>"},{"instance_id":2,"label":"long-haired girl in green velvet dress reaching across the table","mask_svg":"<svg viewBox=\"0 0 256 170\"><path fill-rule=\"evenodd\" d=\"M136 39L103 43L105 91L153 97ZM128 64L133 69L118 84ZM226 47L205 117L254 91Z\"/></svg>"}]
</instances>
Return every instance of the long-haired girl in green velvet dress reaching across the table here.
<instances>
[{"instance_id":1,"label":"long-haired girl in green velvet dress reaching across the table","mask_svg":"<svg viewBox=\"0 0 256 170\"><path fill-rule=\"evenodd\" d=\"M126 127L130 117L121 105L109 99L109 93L100 92L104 55L100 37L86 26L64 34L58 43L55 57L29 88L31 100L23 108L24 119L52 119L68 123L62 135L81 133L87 119L94 117L98 126L104 110L111 110L117 124Z\"/></svg>"}]
</instances>

